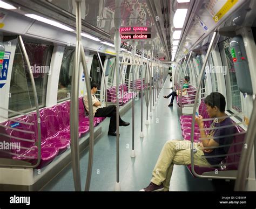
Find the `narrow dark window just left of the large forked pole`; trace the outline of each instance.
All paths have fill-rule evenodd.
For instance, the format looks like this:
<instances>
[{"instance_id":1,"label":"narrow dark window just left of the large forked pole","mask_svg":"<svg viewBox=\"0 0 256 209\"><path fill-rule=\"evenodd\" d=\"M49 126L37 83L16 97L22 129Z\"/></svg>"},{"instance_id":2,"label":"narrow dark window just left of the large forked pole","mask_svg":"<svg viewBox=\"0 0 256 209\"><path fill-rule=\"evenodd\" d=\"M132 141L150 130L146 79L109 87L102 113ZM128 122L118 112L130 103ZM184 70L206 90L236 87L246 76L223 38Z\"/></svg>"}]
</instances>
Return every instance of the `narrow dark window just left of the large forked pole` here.
<instances>
[{"instance_id":1,"label":"narrow dark window just left of the large forked pole","mask_svg":"<svg viewBox=\"0 0 256 209\"><path fill-rule=\"evenodd\" d=\"M65 48L59 73L57 101L70 99L75 49Z\"/></svg>"}]
</instances>

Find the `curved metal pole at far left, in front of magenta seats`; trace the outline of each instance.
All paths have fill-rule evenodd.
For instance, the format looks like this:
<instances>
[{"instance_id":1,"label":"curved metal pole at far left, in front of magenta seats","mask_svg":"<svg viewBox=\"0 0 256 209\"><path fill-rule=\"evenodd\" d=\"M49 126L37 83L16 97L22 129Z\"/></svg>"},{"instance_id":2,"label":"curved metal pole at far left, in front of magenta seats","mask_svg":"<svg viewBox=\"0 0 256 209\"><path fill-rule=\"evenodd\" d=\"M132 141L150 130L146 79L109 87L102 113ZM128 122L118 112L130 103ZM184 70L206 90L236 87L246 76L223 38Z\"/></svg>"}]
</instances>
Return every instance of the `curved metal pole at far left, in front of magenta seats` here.
<instances>
[{"instance_id":1,"label":"curved metal pole at far left, in front of magenta seats","mask_svg":"<svg viewBox=\"0 0 256 209\"><path fill-rule=\"evenodd\" d=\"M37 149L38 149L37 163L35 165L32 165L32 166L26 166L26 168L36 168L41 162L41 120L40 120L40 114L39 114L38 97L37 97L37 92L36 92L35 80L34 80L34 77L33 77L33 73L31 71L31 65L30 65L28 53L26 53L26 48L25 48L25 45L23 43L23 40L22 40L21 36L18 36L18 40L19 40L19 43L21 44L21 50L24 54L26 64L28 64L29 76L30 76L30 80L31 80L31 85L32 85L32 89L33 89L33 96L34 96L35 106L36 106L37 130L38 130L38 133L37 133L38 141L37 141L37 144L36 144ZM13 166L13 167L16 167L16 166ZM21 167L21 166L19 166L19 167Z\"/></svg>"}]
</instances>

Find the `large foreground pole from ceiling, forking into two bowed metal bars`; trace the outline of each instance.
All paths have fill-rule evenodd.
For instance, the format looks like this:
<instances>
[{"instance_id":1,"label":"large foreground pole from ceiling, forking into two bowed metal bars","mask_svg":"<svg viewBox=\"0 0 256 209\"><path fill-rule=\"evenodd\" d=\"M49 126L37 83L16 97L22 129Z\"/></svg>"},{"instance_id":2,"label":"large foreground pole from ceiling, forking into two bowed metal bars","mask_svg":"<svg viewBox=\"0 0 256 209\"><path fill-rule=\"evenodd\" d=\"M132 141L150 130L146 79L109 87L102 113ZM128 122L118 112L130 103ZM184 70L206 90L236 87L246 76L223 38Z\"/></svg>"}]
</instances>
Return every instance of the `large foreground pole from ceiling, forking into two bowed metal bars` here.
<instances>
[{"instance_id":1,"label":"large foreground pole from ceiling, forking into two bowed metal bars","mask_svg":"<svg viewBox=\"0 0 256 209\"><path fill-rule=\"evenodd\" d=\"M71 106L70 106L70 136L71 136L71 157L72 157L72 171L75 184L75 190L81 191L81 178L80 178L80 163L79 163L79 143L78 143L78 81L79 81L79 66L82 59L82 65L85 76L85 84L87 90L88 104L89 104L89 119L90 119L90 140L89 140L89 162L87 169L87 178L85 184L85 191L89 191L90 180L92 173L93 162L93 140L94 140L94 127L93 127L93 110L91 99L91 87L89 74L87 72L87 65L85 60L85 53L81 42L81 2L76 0L76 57L75 66L72 74L72 87L71 87Z\"/></svg>"}]
</instances>

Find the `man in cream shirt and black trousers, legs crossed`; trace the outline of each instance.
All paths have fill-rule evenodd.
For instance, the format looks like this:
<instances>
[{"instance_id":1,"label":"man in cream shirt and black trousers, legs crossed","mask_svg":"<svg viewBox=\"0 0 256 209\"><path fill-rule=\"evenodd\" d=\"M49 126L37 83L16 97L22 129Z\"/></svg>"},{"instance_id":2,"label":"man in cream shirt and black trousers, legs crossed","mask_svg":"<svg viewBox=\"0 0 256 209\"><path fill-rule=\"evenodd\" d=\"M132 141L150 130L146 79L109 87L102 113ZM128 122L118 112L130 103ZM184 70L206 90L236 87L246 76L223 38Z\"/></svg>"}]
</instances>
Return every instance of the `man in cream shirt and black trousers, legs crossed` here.
<instances>
[{"instance_id":1,"label":"man in cream shirt and black trousers, legs crossed","mask_svg":"<svg viewBox=\"0 0 256 209\"><path fill-rule=\"evenodd\" d=\"M109 123L109 133L107 135L110 136L116 136L116 115L117 110L116 106L111 105L108 107L100 107L101 103L95 96L95 93L97 92L97 83L91 82L91 96L92 96L92 109L93 109L93 115L95 117L110 117L110 123ZM89 111L89 105L88 105L88 98L87 95L84 96L84 105L87 111ZM124 122L121 117L119 116L119 126L129 126L130 123Z\"/></svg>"}]
</instances>

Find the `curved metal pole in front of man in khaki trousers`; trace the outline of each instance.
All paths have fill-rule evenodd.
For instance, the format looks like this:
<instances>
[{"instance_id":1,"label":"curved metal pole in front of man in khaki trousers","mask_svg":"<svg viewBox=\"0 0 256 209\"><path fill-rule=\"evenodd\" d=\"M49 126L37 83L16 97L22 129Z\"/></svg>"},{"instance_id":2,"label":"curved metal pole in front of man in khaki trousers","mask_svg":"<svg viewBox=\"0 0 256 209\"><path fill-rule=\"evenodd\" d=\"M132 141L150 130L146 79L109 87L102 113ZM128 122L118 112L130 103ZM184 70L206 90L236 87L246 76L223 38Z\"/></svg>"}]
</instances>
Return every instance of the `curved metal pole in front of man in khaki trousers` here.
<instances>
[{"instance_id":1,"label":"curved metal pole in front of man in khaki trousers","mask_svg":"<svg viewBox=\"0 0 256 209\"><path fill-rule=\"evenodd\" d=\"M214 31L213 32L213 36L212 36L212 40L211 40L211 43L208 47L208 50L207 50L207 53L206 53L206 56L205 56L205 62L203 64L203 67L201 69L201 73L200 73L200 80L199 80L199 83L198 83L198 88L197 88L197 94L196 94L196 99L195 99L195 102L194 102L194 107L193 107L193 117L192 117L192 128L191 128L191 170L192 170L192 173L194 176L196 177L201 177L201 178L212 178L211 176L201 176L201 175L198 175L197 172L194 170L194 145L193 145L193 142L194 142L194 123L195 123L195 115L196 115L196 109L197 109L197 103L198 103L198 98L199 98L199 92L200 92L200 87L201 87L201 82L203 80L203 75L205 73L205 66L206 66L206 63L207 63L207 60L208 60L208 57L210 55L210 52L211 52L211 49L212 49L212 46L213 46L213 42L215 40L217 36L217 31ZM218 178L218 179L226 179L226 177L221 177L221 176L216 176L215 178ZM235 178L230 178L230 179L235 179Z\"/></svg>"}]
</instances>

